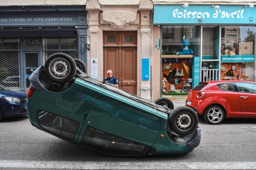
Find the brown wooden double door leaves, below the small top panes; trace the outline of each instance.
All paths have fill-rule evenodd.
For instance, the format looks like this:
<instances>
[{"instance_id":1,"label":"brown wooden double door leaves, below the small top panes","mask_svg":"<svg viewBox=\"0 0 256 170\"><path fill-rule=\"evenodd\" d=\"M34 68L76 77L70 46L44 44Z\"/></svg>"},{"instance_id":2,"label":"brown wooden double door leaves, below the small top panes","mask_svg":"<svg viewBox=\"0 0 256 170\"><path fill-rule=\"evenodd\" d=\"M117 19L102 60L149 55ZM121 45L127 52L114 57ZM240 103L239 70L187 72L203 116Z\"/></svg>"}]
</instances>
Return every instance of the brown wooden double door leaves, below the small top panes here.
<instances>
[{"instance_id":1,"label":"brown wooden double door leaves, below the small top panes","mask_svg":"<svg viewBox=\"0 0 256 170\"><path fill-rule=\"evenodd\" d=\"M135 47L104 47L104 77L113 71L119 81L119 89L136 95L136 49Z\"/></svg>"}]
</instances>

